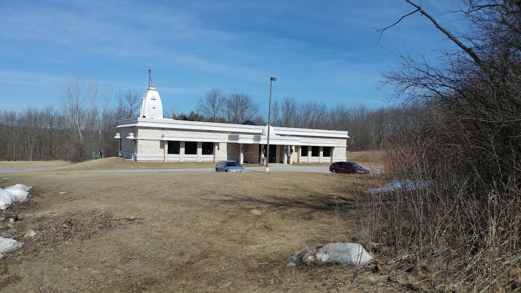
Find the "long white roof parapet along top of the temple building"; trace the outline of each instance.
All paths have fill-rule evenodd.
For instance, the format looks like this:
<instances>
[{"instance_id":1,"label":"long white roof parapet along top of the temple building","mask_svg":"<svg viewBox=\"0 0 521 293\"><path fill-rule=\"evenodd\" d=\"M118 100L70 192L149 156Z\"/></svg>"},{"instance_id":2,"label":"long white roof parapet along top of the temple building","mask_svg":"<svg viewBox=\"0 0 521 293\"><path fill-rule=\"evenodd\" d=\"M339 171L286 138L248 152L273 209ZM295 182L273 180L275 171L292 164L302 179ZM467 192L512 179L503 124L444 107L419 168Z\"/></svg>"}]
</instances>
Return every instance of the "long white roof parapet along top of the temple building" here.
<instances>
[{"instance_id":1,"label":"long white roof parapet along top of the temple building","mask_svg":"<svg viewBox=\"0 0 521 293\"><path fill-rule=\"evenodd\" d=\"M259 135L265 126L258 125L242 125L213 123L200 121L185 121L174 119L149 119L149 118L132 118L118 121L117 127L151 127L166 129L183 129L183 130L203 130L203 131L220 131L220 132L242 132ZM329 137L348 139L348 131L339 130L321 130L321 129L305 129L305 128L289 128L289 127L273 127L278 136L311 136L311 137ZM271 130L270 130L271 140Z\"/></svg>"}]
</instances>

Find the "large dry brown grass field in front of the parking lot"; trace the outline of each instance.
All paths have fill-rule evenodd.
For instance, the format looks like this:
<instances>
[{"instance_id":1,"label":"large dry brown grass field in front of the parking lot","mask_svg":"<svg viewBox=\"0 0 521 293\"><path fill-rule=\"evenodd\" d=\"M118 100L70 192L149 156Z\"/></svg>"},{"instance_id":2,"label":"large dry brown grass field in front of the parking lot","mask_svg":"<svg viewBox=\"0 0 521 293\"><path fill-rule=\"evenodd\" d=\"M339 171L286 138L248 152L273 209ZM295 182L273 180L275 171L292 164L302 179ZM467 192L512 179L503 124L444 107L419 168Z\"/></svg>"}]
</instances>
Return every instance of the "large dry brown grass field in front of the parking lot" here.
<instances>
[{"instance_id":1,"label":"large dry brown grass field in front of the parking lot","mask_svg":"<svg viewBox=\"0 0 521 293\"><path fill-rule=\"evenodd\" d=\"M98 160L99 161L99 160ZM0 260L2 292L386 292L363 267L287 267L306 246L356 241L376 176L318 173L10 173L33 186L2 213L24 246ZM17 221L9 223L8 218ZM31 231L35 235L31 236ZM393 279L392 282L390 279Z\"/></svg>"}]
</instances>

